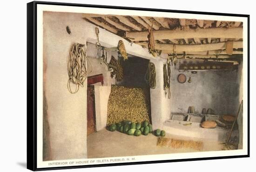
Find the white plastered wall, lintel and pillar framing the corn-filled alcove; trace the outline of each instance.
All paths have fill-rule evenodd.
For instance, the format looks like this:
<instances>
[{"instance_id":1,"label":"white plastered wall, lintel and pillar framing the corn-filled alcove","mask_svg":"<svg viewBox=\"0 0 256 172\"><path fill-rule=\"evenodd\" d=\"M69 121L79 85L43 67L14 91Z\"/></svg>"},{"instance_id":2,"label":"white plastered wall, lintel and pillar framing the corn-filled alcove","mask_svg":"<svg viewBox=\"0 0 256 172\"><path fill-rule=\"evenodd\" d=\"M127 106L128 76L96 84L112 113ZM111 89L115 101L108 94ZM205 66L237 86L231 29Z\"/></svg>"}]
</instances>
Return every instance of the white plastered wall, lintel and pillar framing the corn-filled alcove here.
<instances>
[{"instance_id":1,"label":"white plastered wall, lintel and pillar framing the corn-filled alcove","mask_svg":"<svg viewBox=\"0 0 256 172\"><path fill-rule=\"evenodd\" d=\"M74 43L95 43L95 25L82 19L79 13L44 12L43 14L43 57L46 70L44 72L45 96L47 99L47 111L49 122L49 141L51 159L78 159L87 158L87 87L80 88L76 94L67 90L67 57ZM69 26L71 34L67 34ZM154 127L161 128L162 122L168 119L170 103L164 98L162 89L162 64L163 60L153 57L147 49L139 45L130 45L125 39L99 28L99 39L102 46L116 47L121 39L124 42L128 54L151 59L156 66L156 89L151 89L151 116ZM96 67L94 67L96 68ZM86 83L85 83L86 85ZM109 87L99 87L100 102L96 106L101 107L101 113L106 112ZM96 112L97 113L97 112ZM96 116L97 130L105 124L106 116Z\"/></svg>"}]
</instances>

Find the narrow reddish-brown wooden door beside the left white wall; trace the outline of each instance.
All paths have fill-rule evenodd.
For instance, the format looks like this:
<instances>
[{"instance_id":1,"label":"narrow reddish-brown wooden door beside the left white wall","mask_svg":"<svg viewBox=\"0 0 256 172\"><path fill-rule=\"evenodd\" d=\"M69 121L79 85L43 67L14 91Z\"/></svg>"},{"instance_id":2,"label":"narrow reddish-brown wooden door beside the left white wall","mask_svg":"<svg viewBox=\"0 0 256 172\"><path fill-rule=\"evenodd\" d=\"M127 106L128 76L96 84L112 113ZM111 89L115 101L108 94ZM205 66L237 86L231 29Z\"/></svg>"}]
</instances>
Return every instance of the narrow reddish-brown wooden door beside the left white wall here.
<instances>
[{"instance_id":1,"label":"narrow reddish-brown wooden door beside the left white wall","mask_svg":"<svg viewBox=\"0 0 256 172\"><path fill-rule=\"evenodd\" d=\"M87 86L87 136L96 131L94 85Z\"/></svg>"}]
</instances>

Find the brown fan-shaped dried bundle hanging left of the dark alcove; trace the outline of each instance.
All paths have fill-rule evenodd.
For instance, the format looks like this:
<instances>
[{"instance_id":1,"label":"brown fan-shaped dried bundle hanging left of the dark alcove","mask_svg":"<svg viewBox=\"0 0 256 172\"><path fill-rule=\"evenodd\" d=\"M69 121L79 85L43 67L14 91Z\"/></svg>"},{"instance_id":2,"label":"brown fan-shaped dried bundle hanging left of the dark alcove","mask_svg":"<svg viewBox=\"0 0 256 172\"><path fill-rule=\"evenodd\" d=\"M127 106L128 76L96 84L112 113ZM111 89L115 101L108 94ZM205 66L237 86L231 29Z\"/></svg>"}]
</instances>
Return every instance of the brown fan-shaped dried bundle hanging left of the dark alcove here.
<instances>
[{"instance_id":1,"label":"brown fan-shaped dried bundle hanging left of the dark alcove","mask_svg":"<svg viewBox=\"0 0 256 172\"><path fill-rule=\"evenodd\" d=\"M123 68L115 57L111 57L108 66L113 69L113 72L111 72L111 77L113 78L115 75L116 81L121 81L123 79Z\"/></svg>"}]
</instances>

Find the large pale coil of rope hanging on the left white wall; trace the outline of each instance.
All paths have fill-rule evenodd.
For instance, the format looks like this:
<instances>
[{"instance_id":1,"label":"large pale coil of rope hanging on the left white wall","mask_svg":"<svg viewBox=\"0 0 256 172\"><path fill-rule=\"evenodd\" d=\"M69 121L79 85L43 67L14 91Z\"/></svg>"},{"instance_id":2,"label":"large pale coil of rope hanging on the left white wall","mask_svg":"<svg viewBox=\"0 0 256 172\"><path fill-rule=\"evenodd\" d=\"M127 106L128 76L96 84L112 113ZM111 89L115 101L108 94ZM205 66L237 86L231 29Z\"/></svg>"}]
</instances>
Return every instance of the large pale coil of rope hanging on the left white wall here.
<instances>
[{"instance_id":1,"label":"large pale coil of rope hanging on the left white wall","mask_svg":"<svg viewBox=\"0 0 256 172\"><path fill-rule=\"evenodd\" d=\"M67 89L70 93L74 94L79 90L79 86L84 86L83 83L86 80L88 73L92 72L92 70L88 72L88 62L89 60L86 55L85 45L75 43L69 52L67 60ZM74 91L71 90L70 82L75 84Z\"/></svg>"}]
</instances>

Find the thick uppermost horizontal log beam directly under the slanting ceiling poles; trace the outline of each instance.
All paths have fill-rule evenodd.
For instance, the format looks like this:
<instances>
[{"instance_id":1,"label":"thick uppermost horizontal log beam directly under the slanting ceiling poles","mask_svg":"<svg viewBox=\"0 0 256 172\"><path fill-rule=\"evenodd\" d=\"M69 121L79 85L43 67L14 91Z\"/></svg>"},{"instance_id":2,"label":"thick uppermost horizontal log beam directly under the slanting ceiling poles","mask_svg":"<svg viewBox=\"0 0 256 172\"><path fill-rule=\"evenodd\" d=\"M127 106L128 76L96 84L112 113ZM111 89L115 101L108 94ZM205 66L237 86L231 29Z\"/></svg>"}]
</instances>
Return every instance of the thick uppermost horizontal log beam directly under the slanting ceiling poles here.
<instances>
[{"instance_id":1,"label":"thick uppermost horizontal log beam directly under the slanting ceiling poles","mask_svg":"<svg viewBox=\"0 0 256 172\"><path fill-rule=\"evenodd\" d=\"M134 41L148 40L148 32L126 32L128 38ZM157 39L184 39L184 38L243 38L243 28L206 28L189 30L159 30L154 31Z\"/></svg>"}]
</instances>

